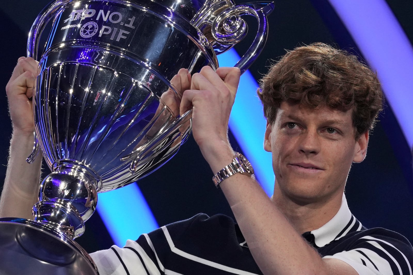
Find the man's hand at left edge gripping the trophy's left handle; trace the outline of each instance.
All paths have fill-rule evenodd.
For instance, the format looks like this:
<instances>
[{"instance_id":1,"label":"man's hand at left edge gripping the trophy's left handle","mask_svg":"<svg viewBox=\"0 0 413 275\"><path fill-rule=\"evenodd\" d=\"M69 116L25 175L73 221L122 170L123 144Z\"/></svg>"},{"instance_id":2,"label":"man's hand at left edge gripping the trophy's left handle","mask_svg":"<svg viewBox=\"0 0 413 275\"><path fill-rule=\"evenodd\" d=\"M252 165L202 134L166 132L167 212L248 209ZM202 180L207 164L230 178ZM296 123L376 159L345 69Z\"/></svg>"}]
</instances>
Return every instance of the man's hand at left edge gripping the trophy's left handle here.
<instances>
[{"instance_id":1,"label":"man's hand at left edge gripping the trophy's left handle","mask_svg":"<svg viewBox=\"0 0 413 275\"><path fill-rule=\"evenodd\" d=\"M36 60L31 57L20 57L6 86L13 131L18 131L21 134L33 135L34 120L31 97L39 73Z\"/></svg>"}]
</instances>

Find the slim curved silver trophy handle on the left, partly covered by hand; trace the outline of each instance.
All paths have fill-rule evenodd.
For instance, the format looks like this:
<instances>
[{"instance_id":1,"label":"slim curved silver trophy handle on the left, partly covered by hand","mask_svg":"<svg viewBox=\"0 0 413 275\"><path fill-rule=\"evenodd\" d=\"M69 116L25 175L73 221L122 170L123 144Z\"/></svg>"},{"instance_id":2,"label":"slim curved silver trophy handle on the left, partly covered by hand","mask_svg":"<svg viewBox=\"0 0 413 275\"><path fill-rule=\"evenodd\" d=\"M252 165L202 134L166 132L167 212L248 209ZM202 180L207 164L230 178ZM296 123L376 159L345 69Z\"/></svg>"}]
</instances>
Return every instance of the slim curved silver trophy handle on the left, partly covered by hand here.
<instances>
[{"instance_id":1,"label":"slim curved silver trophy handle on the left, partly covered by hand","mask_svg":"<svg viewBox=\"0 0 413 275\"><path fill-rule=\"evenodd\" d=\"M45 7L36 17L33 25L30 28L27 38L27 56L38 60L39 40L45 29L46 24L56 15L56 12L69 0L57 0ZM34 112L34 110L33 110ZM32 163L39 153L39 141L37 139L36 131L34 132L34 146L33 151L27 157L26 162Z\"/></svg>"}]
</instances>

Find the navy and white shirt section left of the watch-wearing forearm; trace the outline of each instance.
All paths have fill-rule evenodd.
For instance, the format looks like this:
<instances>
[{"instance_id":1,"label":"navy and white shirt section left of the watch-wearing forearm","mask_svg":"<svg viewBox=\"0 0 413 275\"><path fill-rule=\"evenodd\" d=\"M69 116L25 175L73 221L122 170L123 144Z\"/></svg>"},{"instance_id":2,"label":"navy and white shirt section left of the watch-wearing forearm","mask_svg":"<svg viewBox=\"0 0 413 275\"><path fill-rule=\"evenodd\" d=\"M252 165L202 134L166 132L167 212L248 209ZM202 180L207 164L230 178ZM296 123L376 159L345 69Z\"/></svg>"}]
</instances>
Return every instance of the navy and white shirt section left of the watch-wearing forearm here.
<instances>
[{"instance_id":1,"label":"navy and white shirt section left of the watch-wearing forearm","mask_svg":"<svg viewBox=\"0 0 413 275\"><path fill-rule=\"evenodd\" d=\"M217 225L222 221L228 226L219 228ZM102 256L109 257L112 265L116 266L110 272L100 271L103 275L262 274L249 249L240 245L242 242L235 231L240 232L227 216L209 218L199 214L143 234L136 242L128 241L123 249L112 247L111 250L117 251L116 259L105 251L95 252L91 256L97 259L98 268ZM211 232L216 238L210 242L201 240ZM232 236L228 235L230 232ZM183 241L188 236L194 241ZM242 239L242 235L239 237Z\"/></svg>"}]
</instances>

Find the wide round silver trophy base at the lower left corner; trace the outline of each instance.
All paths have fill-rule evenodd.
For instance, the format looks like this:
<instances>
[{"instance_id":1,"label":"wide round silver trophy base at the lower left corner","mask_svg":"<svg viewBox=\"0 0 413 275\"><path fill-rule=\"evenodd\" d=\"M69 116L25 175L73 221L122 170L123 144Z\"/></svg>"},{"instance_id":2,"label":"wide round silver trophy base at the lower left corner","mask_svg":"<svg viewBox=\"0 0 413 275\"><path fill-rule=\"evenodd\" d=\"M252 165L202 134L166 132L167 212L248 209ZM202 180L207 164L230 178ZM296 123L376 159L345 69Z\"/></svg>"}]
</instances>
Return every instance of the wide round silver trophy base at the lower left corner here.
<instances>
[{"instance_id":1,"label":"wide round silver trophy base at the lower left corner","mask_svg":"<svg viewBox=\"0 0 413 275\"><path fill-rule=\"evenodd\" d=\"M88 253L64 233L26 219L0 219L0 274L98 275Z\"/></svg>"}]
</instances>

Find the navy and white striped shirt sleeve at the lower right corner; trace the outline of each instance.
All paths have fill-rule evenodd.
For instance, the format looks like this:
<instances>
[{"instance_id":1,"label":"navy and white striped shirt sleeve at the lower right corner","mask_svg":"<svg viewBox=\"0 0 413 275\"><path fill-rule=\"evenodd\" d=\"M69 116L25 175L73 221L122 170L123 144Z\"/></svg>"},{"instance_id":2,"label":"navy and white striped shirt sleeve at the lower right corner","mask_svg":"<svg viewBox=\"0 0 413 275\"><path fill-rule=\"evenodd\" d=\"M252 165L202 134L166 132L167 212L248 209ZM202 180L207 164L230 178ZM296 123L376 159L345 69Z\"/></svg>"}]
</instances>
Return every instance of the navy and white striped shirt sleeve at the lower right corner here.
<instances>
[{"instance_id":1,"label":"navy and white striped shirt sleeve at the lower right corner","mask_svg":"<svg viewBox=\"0 0 413 275\"><path fill-rule=\"evenodd\" d=\"M351 249L323 258L344 261L360 275L412 275L413 248L399 233L377 229L351 245Z\"/></svg>"}]
</instances>

